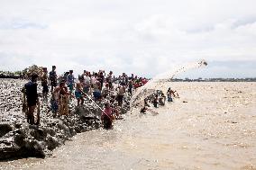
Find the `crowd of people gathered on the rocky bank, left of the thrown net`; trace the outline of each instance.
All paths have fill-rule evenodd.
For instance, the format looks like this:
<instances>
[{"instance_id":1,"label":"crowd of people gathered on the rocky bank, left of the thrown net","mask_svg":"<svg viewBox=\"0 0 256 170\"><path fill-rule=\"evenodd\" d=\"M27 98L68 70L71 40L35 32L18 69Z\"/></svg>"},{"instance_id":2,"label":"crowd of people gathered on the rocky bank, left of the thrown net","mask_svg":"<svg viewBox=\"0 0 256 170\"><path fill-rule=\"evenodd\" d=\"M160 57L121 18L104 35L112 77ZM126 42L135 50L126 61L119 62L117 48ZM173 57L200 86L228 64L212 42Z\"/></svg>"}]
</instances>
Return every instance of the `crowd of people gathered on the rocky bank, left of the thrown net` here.
<instances>
[{"instance_id":1,"label":"crowd of people gathered on the rocky bank, left of the thrown net","mask_svg":"<svg viewBox=\"0 0 256 170\"><path fill-rule=\"evenodd\" d=\"M33 113L36 106L40 108L40 99L37 91L37 81L41 80L42 102L47 103L50 98L50 110L53 117L69 114L69 102L77 100L77 105L83 105L85 99L93 103L104 101L105 108L102 110L101 120L105 128L110 128L112 121L120 116L120 108L123 107L124 94L132 95L133 90L148 82L148 79L138 76L127 76L123 73L115 77L113 71L108 74L104 70L93 72L92 74L84 70L82 74L75 78L73 70L65 72L62 76L57 76L56 67L52 66L48 73L47 67L43 67L42 76L32 74L31 81L23 88L27 106L27 122L30 124L40 124L40 113L37 113L37 121L34 121Z\"/></svg>"}]
</instances>

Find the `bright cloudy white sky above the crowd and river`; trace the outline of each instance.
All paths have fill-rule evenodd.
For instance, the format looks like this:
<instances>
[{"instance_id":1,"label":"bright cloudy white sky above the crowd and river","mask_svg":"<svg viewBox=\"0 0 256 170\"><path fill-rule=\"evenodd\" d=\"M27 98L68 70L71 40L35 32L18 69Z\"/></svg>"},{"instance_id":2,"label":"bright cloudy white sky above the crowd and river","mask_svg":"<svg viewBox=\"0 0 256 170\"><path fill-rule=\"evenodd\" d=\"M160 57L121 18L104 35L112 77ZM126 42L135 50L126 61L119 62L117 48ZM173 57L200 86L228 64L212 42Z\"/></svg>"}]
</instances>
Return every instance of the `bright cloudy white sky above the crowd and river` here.
<instances>
[{"instance_id":1,"label":"bright cloudy white sky above the crowd and river","mask_svg":"<svg viewBox=\"0 0 256 170\"><path fill-rule=\"evenodd\" d=\"M255 0L0 0L0 70L256 77Z\"/></svg>"}]
</instances>

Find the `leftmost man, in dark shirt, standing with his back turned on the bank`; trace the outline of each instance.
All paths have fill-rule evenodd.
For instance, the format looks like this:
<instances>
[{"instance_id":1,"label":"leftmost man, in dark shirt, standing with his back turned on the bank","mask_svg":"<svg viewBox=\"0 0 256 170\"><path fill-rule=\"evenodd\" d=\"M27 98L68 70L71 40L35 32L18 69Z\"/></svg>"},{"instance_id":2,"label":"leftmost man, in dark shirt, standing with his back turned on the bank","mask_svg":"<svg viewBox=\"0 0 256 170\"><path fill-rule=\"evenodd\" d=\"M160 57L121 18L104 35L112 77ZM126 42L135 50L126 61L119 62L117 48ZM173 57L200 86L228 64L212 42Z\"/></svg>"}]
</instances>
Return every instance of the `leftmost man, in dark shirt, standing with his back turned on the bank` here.
<instances>
[{"instance_id":1,"label":"leftmost man, in dark shirt, standing with his back turned on the bank","mask_svg":"<svg viewBox=\"0 0 256 170\"><path fill-rule=\"evenodd\" d=\"M39 124L40 123L40 115L39 112L37 114L37 122L34 122L34 116L33 112L36 108L36 105L39 106L39 99L37 94L37 78L38 75L33 74L32 79L30 82L26 83L24 85L25 94L27 97L27 106L28 106L28 112L27 112L27 122L30 124Z\"/></svg>"}]
</instances>

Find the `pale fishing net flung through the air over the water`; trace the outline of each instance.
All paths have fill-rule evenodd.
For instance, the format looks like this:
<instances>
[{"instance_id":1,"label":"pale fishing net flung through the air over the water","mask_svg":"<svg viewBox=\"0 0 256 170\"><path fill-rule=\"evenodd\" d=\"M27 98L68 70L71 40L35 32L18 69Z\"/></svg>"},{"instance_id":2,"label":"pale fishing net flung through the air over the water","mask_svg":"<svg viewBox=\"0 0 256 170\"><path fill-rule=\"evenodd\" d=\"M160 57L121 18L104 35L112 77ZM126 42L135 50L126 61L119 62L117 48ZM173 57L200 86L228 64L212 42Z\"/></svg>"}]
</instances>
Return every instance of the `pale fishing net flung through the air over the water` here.
<instances>
[{"instance_id":1,"label":"pale fishing net flung through the air over the water","mask_svg":"<svg viewBox=\"0 0 256 170\"><path fill-rule=\"evenodd\" d=\"M177 76L180 73L184 73L190 69L206 67L206 66L207 66L206 60L202 59L197 62L187 63L184 66L177 67L175 69L172 69L171 71L167 71L167 72L161 73L158 76L153 77L146 85L143 85L142 87L137 89L135 94L133 94L132 108L137 106L141 107L143 105L143 99L151 95L153 92L155 92L155 90L162 90L164 83L171 80L174 76Z\"/></svg>"}]
</instances>

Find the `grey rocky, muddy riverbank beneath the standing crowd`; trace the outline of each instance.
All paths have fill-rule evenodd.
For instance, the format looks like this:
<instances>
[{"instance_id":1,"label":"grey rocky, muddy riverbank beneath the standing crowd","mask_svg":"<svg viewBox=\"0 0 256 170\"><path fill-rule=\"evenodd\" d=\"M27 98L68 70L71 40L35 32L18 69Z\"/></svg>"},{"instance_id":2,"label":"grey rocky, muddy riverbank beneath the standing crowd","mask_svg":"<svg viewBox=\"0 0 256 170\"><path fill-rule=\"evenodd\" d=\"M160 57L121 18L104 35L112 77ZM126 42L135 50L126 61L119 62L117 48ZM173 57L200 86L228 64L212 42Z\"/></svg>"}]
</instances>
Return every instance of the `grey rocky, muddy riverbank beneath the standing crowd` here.
<instances>
[{"instance_id":1,"label":"grey rocky, muddy riverbank beneath the standing crowd","mask_svg":"<svg viewBox=\"0 0 256 170\"><path fill-rule=\"evenodd\" d=\"M1 79L0 82L0 160L20 157L46 157L51 151L65 143L74 135L101 127L101 111L89 100L76 107L75 99L69 103L70 114L53 118L47 113L50 103L41 101L41 124L29 125L22 112L21 93L23 80ZM39 92L41 92L41 85ZM99 105L103 108L103 104ZM129 100L125 97L121 113L129 110Z\"/></svg>"}]
</instances>

